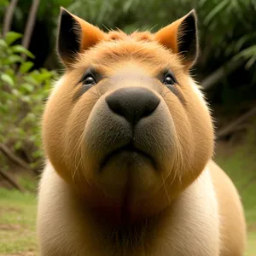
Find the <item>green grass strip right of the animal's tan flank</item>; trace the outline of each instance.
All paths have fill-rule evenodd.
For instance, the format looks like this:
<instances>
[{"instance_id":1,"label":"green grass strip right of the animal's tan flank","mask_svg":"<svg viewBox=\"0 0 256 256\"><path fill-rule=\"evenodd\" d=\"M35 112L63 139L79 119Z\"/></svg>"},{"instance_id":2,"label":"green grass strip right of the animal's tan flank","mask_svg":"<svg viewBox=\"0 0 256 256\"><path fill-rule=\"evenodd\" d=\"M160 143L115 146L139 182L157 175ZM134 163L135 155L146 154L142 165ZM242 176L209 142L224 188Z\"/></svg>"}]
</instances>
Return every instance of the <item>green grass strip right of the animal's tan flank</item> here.
<instances>
[{"instance_id":1,"label":"green grass strip right of the animal's tan flank","mask_svg":"<svg viewBox=\"0 0 256 256\"><path fill-rule=\"evenodd\" d=\"M256 148L252 145L252 141L239 146L221 145L215 159L231 177L241 196L247 220L246 256L256 256Z\"/></svg>"}]
</instances>

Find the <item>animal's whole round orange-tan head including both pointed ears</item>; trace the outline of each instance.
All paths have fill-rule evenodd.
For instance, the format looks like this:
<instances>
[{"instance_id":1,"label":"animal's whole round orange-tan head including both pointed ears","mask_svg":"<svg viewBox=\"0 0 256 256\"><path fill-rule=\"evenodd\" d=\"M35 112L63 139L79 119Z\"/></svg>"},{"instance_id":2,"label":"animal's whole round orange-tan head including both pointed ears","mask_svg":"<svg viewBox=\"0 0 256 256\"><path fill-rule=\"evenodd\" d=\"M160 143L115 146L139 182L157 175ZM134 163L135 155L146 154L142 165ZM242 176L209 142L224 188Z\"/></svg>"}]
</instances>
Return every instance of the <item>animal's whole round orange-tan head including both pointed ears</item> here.
<instances>
[{"instance_id":1,"label":"animal's whole round orange-tan head including both pointed ears","mask_svg":"<svg viewBox=\"0 0 256 256\"><path fill-rule=\"evenodd\" d=\"M115 218L162 211L212 155L211 118L189 77L195 13L155 34L126 35L62 9L59 33L67 71L44 113L50 162Z\"/></svg>"}]
</instances>

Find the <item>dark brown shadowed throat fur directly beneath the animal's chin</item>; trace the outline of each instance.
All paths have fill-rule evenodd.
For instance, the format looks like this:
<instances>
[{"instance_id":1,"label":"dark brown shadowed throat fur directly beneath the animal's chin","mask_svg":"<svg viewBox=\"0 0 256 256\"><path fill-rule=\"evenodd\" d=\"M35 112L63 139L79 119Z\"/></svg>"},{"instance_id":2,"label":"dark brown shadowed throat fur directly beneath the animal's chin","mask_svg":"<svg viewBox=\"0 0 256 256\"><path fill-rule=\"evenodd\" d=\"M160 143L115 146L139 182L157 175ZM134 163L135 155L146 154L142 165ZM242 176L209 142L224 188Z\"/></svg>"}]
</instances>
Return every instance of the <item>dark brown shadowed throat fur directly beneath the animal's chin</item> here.
<instances>
[{"instance_id":1,"label":"dark brown shadowed throat fur directly beneath the animal's chin","mask_svg":"<svg viewBox=\"0 0 256 256\"><path fill-rule=\"evenodd\" d=\"M133 251L148 252L152 230L160 216L132 221L127 214L120 216L119 211L113 209L91 209L84 202L83 205L86 206L84 216L89 218L86 222L90 223L90 229L96 233L95 237L102 238L107 251L115 252L113 255L133 255Z\"/></svg>"}]
</instances>

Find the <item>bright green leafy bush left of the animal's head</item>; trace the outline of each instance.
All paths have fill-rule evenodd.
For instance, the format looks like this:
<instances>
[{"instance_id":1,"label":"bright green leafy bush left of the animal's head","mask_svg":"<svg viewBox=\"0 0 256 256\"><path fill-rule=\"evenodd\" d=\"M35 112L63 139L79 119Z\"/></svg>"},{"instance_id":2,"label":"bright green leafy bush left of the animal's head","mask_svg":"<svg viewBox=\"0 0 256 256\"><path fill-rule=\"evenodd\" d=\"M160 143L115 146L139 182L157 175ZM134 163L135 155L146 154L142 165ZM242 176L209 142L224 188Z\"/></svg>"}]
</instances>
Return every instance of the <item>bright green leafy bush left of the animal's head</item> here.
<instances>
[{"instance_id":1,"label":"bright green leafy bush left of the animal's head","mask_svg":"<svg viewBox=\"0 0 256 256\"><path fill-rule=\"evenodd\" d=\"M32 61L24 61L21 55L33 58L32 53L13 45L20 37L9 32L0 38L0 141L15 150L29 148L33 166L37 166L42 157L39 118L56 73L45 68L31 71Z\"/></svg>"}]
</instances>

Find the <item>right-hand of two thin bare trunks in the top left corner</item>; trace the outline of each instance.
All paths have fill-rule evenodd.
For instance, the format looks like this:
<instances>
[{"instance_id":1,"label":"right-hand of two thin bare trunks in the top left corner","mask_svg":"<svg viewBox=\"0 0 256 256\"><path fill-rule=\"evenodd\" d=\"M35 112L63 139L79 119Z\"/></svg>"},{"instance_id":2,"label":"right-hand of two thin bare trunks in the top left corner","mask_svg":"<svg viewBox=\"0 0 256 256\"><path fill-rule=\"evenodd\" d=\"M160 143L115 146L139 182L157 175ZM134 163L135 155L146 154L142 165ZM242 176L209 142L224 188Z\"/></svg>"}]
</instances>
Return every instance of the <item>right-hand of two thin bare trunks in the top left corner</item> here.
<instances>
[{"instance_id":1,"label":"right-hand of two thin bare trunks in the top left corner","mask_svg":"<svg viewBox=\"0 0 256 256\"><path fill-rule=\"evenodd\" d=\"M37 18L37 13L38 13L38 7L39 7L40 0L33 0L32 2L32 7L29 11L28 19L26 20L26 29L24 32L24 37L22 39L22 46L28 49L31 36L32 36L32 31L35 26L35 21ZM22 55L23 59L26 59L25 55Z\"/></svg>"}]
</instances>

